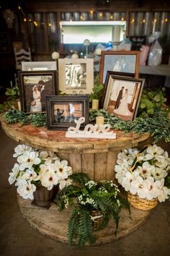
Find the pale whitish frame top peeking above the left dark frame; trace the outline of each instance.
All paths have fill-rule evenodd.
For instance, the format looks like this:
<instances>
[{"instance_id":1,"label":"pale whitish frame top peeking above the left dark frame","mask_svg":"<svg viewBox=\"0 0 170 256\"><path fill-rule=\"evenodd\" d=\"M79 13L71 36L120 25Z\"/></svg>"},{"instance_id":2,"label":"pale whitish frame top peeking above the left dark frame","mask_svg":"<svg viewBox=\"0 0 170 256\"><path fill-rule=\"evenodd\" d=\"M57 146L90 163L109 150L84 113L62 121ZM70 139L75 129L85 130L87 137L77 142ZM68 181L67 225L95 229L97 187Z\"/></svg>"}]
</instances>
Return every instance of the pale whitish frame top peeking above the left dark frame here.
<instances>
[{"instance_id":1,"label":"pale whitish frame top peeking above the left dark frame","mask_svg":"<svg viewBox=\"0 0 170 256\"><path fill-rule=\"evenodd\" d=\"M57 70L56 61L23 61L22 71Z\"/></svg>"}]
</instances>

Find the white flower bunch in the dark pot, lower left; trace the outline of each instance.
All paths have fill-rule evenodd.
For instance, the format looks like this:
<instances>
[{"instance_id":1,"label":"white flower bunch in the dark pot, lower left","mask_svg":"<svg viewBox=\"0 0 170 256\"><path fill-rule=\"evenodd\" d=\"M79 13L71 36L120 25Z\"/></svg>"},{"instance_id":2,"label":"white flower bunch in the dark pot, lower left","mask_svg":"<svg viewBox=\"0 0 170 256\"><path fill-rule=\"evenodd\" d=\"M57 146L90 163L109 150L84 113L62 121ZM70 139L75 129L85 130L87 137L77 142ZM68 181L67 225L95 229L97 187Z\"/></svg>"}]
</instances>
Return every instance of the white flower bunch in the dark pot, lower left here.
<instances>
[{"instance_id":1,"label":"white flower bunch in the dark pot, lower left","mask_svg":"<svg viewBox=\"0 0 170 256\"><path fill-rule=\"evenodd\" d=\"M71 184L68 176L73 174L68 161L60 161L52 151L42 151L27 145L17 145L14 149L14 164L12 172L9 173L9 184L15 183L17 192L24 199L34 199L33 193L37 185L42 185L48 190L59 185L60 189Z\"/></svg>"}]
</instances>

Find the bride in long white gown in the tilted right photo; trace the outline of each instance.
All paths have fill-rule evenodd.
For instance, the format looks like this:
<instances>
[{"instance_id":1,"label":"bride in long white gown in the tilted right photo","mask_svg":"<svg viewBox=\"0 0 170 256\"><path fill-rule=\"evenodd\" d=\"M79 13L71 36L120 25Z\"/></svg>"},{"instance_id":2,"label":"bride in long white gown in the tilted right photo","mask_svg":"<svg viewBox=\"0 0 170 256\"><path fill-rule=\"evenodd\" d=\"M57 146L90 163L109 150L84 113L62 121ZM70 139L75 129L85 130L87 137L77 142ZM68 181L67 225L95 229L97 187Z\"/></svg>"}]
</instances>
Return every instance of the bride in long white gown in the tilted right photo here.
<instances>
[{"instance_id":1,"label":"bride in long white gown in the tilted right photo","mask_svg":"<svg viewBox=\"0 0 170 256\"><path fill-rule=\"evenodd\" d=\"M125 94L122 95L120 106L114 109L113 113L121 116L130 116L132 113L128 109L128 89L125 90Z\"/></svg>"}]
</instances>

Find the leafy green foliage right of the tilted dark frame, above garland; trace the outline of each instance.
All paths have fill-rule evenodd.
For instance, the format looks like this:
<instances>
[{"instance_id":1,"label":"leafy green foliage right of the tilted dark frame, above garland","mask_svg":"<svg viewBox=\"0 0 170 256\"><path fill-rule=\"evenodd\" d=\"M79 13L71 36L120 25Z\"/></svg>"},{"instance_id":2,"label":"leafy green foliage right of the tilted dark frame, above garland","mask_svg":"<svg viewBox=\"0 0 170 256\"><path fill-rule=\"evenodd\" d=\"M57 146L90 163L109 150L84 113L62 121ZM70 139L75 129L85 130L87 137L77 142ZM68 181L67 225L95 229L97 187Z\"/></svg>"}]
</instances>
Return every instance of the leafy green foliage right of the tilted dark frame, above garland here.
<instances>
[{"instance_id":1,"label":"leafy green foliage right of the tilted dark frame, above garland","mask_svg":"<svg viewBox=\"0 0 170 256\"><path fill-rule=\"evenodd\" d=\"M166 100L165 88L158 88L156 91L143 90L138 108L138 116L152 116L155 108L169 111L169 108L165 105Z\"/></svg>"}]
</instances>

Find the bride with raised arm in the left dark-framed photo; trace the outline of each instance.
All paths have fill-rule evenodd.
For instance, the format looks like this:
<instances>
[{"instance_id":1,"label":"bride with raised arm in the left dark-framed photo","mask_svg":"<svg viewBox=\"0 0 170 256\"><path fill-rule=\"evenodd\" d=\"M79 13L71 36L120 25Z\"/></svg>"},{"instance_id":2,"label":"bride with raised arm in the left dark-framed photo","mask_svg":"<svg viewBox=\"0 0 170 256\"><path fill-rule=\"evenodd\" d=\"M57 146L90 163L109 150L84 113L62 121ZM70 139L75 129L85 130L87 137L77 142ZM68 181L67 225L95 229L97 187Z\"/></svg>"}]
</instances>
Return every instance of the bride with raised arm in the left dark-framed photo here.
<instances>
[{"instance_id":1,"label":"bride with raised arm in the left dark-framed photo","mask_svg":"<svg viewBox=\"0 0 170 256\"><path fill-rule=\"evenodd\" d=\"M44 85L45 87L45 85ZM44 88L43 88L44 89ZM42 111L42 104L41 104L41 92L42 90L38 90L38 86L35 85L32 90L33 90L33 101L30 106L30 112L40 112Z\"/></svg>"}]
</instances>

